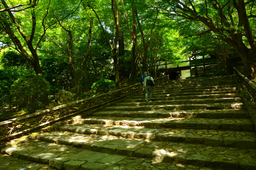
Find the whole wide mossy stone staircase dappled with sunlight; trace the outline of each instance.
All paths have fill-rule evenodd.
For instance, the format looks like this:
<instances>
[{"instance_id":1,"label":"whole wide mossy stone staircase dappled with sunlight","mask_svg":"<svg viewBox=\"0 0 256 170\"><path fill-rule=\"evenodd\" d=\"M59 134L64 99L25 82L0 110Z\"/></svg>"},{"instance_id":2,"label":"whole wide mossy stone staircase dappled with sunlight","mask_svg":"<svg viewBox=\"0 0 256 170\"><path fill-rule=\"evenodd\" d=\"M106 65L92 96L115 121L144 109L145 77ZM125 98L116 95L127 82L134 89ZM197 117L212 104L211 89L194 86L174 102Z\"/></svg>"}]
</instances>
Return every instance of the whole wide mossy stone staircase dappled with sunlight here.
<instances>
[{"instance_id":1,"label":"whole wide mossy stone staircase dappled with sunlight","mask_svg":"<svg viewBox=\"0 0 256 170\"><path fill-rule=\"evenodd\" d=\"M152 96L87 111L1 153L66 170L256 169L255 126L234 76L171 80Z\"/></svg>"}]
</instances>

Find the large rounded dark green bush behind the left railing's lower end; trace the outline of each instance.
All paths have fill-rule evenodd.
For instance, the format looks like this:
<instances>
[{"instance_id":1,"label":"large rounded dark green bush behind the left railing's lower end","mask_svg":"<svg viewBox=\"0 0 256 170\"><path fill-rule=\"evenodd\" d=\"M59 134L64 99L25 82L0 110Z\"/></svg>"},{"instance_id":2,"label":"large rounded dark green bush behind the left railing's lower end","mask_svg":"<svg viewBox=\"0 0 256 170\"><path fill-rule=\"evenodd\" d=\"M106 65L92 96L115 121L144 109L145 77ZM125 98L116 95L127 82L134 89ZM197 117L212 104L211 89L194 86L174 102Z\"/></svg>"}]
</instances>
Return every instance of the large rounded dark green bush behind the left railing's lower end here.
<instances>
[{"instance_id":1,"label":"large rounded dark green bush behind the left railing's lower end","mask_svg":"<svg viewBox=\"0 0 256 170\"><path fill-rule=\"evenodd\" d=\"M40 75L28 74L18 79L11 88L14 105L34 113L49 104L49 83Z\"/></svg>"}]
</instances>

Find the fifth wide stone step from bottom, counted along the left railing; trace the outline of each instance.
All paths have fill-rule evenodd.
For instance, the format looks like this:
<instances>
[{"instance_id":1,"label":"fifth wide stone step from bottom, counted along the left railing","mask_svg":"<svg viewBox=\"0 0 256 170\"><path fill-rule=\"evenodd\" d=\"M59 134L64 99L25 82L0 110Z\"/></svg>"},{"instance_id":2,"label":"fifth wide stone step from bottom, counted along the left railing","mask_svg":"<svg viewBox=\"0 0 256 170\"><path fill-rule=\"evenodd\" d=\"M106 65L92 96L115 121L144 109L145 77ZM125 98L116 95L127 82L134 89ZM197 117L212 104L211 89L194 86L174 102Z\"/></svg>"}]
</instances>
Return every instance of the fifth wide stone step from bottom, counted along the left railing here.
<instances>
[{"instance_id":1,"label":"fifth wide stone step from bottom, counted along the left railing","mask_svg":"<svg viewBox=\"0 0 256 170\"><path fill-rule=\"evenodd\" d=\"M89 116L108 116L108 117L185 117L185 118L246 118L249 119L249 113L246 110L182 110L182 111L100 111L93 112Z\"/></svg>"}]
</instances>

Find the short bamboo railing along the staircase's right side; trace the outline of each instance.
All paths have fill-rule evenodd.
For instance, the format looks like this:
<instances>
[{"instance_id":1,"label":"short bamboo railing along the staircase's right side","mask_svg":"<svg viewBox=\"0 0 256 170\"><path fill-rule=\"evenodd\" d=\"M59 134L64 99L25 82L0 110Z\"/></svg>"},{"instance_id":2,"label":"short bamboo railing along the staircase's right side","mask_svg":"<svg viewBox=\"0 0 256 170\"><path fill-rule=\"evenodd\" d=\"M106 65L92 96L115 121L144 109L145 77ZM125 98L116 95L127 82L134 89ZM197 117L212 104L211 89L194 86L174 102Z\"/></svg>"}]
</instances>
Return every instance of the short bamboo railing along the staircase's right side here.
<instances>
[{"instance_id":1,"label":"short bamboo railing along the staircase's right side","mask_svg":"<svg viewBox=\"0 0 256 170\"><path fill-rule=\"evenodd\" d=\"M247 77L241 74L236 68L234 68L234 74L237 76L240 83L246 88L252 101L256 103L256 84L250 81Z\"/></svg>"}]
</instances>

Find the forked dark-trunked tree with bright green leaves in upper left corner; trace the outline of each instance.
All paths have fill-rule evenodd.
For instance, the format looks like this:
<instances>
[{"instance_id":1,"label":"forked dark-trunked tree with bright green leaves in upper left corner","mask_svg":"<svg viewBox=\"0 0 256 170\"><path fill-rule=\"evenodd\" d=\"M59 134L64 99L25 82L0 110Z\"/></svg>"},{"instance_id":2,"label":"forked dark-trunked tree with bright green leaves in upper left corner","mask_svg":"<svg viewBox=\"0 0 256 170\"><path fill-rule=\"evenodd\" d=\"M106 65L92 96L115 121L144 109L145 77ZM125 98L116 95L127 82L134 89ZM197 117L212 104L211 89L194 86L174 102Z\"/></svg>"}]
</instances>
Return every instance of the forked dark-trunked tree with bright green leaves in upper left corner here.
<instances>
[{"instance_id":1,"label":"forked dark-trunked tree with bright green leaves in upper left corner","mask_svg":"<svg viewBox=\"0 0 256 170\"><path fill-rule=\"evenodd\" d=\"M81 3L81 1L79 2ZM65 3L60 3L57 0L42 0L40 2L33 0L32 2L30 1L30 4L33 5L27 7L26 10L19 8L23 5L18 5L17 10L3 10L0 16L0 29L2 31L0 42L7 44L22 54L33 66L36 74L41 74L43 77L37 54L40 42L52 25L65 19L77 10L80 5L79 2L66 1ZM1 0L1 4L5 9L15 7L10 1L6 0ZM56 10L55 5L59 5L59 10L65 9L66 11L60 12L58 9ZM68 10L62 8L65 5L76 5L76 7ZM56 12L60 12L61 15L56 14ZM58 19L52 19L54 15L58 16L56 17ZM37 25L38 21L41 21L39 27Z\"/></svg>"}]
</instances>

